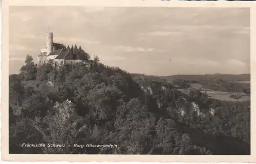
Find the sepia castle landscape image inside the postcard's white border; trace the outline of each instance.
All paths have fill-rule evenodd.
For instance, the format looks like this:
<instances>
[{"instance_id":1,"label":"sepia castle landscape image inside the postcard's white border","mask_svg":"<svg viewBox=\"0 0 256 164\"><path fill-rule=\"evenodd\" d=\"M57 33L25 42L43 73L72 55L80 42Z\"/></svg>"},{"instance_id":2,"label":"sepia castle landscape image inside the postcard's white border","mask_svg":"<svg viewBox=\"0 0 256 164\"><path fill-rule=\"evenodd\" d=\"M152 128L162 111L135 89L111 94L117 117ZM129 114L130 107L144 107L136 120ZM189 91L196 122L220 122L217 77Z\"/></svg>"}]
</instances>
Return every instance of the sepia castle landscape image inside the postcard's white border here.
<instances>
[{"instance_id":1,"label":"sepia castle landscape image inside the postcard's white border","mask_svg":"<svg viewBox=\"0 0 256 164\"><path fill-rule=\"evenodd\" d=\"M10 6L9 154L251 155L250 28L250 8Z\"/></svg>"}]
</instances>

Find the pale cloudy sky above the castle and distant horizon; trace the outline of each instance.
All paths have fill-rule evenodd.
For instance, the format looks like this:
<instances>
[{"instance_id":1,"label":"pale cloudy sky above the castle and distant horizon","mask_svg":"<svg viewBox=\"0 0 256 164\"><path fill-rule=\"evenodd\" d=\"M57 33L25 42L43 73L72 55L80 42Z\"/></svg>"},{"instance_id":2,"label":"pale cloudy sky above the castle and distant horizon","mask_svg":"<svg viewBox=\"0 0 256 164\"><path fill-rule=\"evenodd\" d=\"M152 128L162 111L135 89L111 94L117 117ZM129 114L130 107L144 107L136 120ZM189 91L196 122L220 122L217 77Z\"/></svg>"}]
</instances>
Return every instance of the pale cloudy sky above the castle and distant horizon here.
<instances>
[{"instance_id":1,"label":"pale cloudy sky above the castle and distant horizon","mask_svg":"<svg viewBox=\"0 0 256 164\"><path fill-rule=\"evenodd\" d=\"M12 6L9 73L37 62L46 33L130 73L250 73L249 8Z\"/></svg>"}]
</instances>

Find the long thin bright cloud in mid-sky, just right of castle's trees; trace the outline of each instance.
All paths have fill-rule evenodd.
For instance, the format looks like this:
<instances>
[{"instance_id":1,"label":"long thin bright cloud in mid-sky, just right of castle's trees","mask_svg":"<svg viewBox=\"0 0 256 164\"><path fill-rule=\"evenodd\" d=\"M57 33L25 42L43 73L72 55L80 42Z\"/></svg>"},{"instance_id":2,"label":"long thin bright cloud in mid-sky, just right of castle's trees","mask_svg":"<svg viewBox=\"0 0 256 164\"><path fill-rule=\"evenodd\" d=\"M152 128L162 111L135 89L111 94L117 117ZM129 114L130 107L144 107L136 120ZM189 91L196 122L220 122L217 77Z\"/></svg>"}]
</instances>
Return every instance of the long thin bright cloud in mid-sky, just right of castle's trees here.
<instances>
[{"instance_id":1,"label":"long thin bright cloud in mid-sky, just right of castle's trees","mask_svg":"<svg viewBox=\"0 0 256 164\"><path fill-rule=\"evenodd\" d=\"M123 52L164 52L163 50L156 50L154 48L142 48L142 47L132 47L132 46L111 46L111 49L115 51L123 51Z\"/></svg>"}]
</instances>

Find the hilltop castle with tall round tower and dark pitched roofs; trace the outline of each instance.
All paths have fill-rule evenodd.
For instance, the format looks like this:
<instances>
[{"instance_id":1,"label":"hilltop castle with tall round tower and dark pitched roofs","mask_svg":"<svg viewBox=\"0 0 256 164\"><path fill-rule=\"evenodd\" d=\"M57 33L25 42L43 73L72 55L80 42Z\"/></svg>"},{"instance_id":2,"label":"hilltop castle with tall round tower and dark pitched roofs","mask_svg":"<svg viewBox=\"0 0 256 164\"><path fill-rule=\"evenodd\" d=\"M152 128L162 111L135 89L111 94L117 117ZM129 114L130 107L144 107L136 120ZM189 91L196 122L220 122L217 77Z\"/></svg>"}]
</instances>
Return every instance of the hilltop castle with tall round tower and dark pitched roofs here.
<instances>
[{"instance_id":1,"label":"hilltop castle with tall round tower and dark pitched roofs","mask_svg":"<svg viewBox=\"0 0 256 164\"><path fill-rule=\"evenodd\" d=\"M75 47L72 48L53 42L53 33L48 32L46 33L46 47L40 49L40 54L38 54L38 66L41 66L42 64L46 64L49 62L49 60L53 60L57 63L72 63L72 62L81 62L84 61L85 52L81 49L81 46L79 49L75 45Z\"/></svg>"}]
</instances>

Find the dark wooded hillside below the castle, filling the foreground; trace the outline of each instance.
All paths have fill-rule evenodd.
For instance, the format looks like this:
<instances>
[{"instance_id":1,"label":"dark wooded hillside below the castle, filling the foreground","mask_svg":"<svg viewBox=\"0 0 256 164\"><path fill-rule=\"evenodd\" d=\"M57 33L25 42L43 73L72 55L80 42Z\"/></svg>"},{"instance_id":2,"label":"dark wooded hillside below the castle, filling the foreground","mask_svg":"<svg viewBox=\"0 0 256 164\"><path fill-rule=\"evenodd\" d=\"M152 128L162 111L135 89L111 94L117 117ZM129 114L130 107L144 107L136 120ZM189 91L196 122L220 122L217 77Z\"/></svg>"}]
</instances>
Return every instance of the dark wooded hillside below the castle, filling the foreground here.
<instances>
[{"instance_id":1,"label":"dark wooded hillside below the castle, filling the foreground","mask_svg":"<svg viewBox=\"0 0 256 164\"><path fill-rule=\"evenodd\" d=\"M198 90L185 95L166 79L134 76L98 57L37 67L27 56L19 73L9 75L9 153L249 155L249 106L250 101L215 100Z\"/></svg>"}]
</instances>

